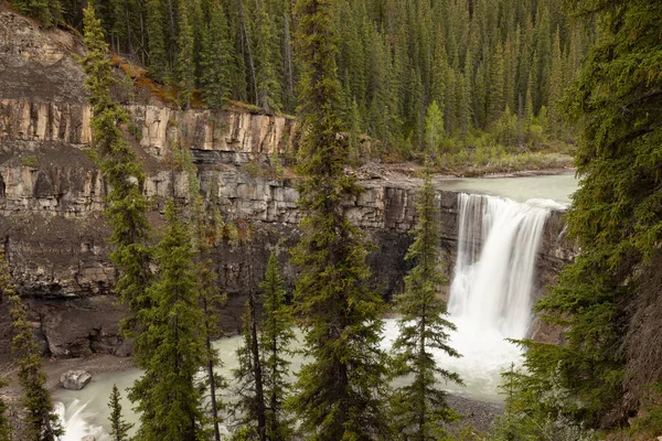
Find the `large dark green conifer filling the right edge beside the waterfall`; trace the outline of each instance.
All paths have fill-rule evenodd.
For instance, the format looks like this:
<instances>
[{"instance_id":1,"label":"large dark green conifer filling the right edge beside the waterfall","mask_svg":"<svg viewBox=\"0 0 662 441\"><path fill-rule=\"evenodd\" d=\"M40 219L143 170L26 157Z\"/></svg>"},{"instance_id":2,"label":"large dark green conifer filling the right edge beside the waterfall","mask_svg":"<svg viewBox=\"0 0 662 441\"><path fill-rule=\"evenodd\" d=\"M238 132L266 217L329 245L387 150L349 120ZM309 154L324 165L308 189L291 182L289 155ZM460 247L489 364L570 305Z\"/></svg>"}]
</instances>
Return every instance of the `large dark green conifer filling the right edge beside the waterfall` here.
<instances>
[{"instance_id":1,"label":"large dark green conifer filling the right edge beside the waterfall","mask_svg":"<svg viewBox=\"0 0 662 441\"><path fill-rule=\"evenodd\" d=\"M566 219L580 256L538 312L562 325L564 342L525 342L532 387L552 379L578 405L551 406L587 424L610 427L623 392L622 338L637 275L662 239L662 9L658 1L568 1L599 24L566 107L581 125L580 189ZM535 94L534 108L535 108Z\"/></svg>"}]
</instances>

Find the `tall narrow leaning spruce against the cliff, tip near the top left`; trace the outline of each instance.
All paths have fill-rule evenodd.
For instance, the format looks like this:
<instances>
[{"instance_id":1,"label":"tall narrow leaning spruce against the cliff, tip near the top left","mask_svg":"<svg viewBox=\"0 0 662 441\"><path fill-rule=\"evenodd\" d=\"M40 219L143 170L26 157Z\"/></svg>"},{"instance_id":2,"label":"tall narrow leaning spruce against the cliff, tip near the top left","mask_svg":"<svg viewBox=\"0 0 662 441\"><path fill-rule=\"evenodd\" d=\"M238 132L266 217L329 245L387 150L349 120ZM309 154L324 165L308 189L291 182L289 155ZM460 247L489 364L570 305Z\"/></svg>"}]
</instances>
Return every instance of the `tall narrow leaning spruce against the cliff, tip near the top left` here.
<instances>
[{"instance_id":1,"label":"tall narrow leaning spruce against the cliff, tip near the top left","mask_svg":"<svg viewBox=\"0 0 662 441\"><path fill-rule=\"evenodd\" d=\"M81 64L87 75L85 86L93 107L92 149L88 153L110 187L105 215L113 230L110 241L116 246L110 254L110 260L119 272L115 290L132 314L122 326L125 335L132 336L145 326L140 323L139 313L151 302L146 294L151 272L147 245L150 227L145 216L147 200L141 191L145 174L136 153L122 137L120 125L128 121L128 116L110 97L110 87L115 83L113 65L106 57L108 45L92 4L85 10L84 21L88 53ZM136 346L138 363L140 354L148 349Z\"/></svg>"}]
</instances>

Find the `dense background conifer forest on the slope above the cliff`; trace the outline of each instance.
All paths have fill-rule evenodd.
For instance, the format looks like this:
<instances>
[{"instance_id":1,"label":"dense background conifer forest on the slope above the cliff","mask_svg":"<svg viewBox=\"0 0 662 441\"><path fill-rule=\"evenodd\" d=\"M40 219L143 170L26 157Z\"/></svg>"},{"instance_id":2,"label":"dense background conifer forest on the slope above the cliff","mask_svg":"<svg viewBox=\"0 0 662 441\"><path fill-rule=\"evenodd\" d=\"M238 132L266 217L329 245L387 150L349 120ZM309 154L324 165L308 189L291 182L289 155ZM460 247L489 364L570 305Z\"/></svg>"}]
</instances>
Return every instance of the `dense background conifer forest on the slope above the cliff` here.
<instances>
[{"instance_id":1,"label":"dense background conifer forest on the slope above the cliff","mask_svg":"<svg viewBox=\"0 0 662 441\"><path fill-rule=\"evenodd\" d=\"M76 29L84 3L13 0L46 25ZM110 47L147 66L180 106L234 99L295 112L291 0L93 3ZM573 140L557 101L591 33L573 24L562 0L341 0L337 8L343 119L355 146L367 133L381 141L373 154L416 154L433 101L444 126L434 147L460 162Z\"/></svg>"}]
</instances>

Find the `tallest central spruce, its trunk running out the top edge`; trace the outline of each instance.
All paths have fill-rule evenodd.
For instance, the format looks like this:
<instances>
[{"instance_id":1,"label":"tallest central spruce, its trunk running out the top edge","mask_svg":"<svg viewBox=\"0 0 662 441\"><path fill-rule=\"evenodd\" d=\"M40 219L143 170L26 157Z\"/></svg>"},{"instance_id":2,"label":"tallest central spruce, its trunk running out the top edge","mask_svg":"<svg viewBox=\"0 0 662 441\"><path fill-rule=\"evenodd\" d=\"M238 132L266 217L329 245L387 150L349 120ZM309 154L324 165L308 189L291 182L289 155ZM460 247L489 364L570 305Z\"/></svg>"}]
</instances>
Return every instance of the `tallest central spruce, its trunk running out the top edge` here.
<instances>
[{"instance_id":1,"label":"tallest central spruce, its trunk running out the top edge","mask_svg":"<svg viewBox=\"0 0 662 441\"><path fill-rule=\"evenodd\" d=\"M387 439L384 413L386 355L380 348L381 298L367 286L366 244L346 217L343 201L361 190L344 174L349 143L340 135L335 2L298 0L300 56L299 204L307 213L293 252L305 353L292 409L306 438L316 441Z\"/></svg>"}]
</instances>

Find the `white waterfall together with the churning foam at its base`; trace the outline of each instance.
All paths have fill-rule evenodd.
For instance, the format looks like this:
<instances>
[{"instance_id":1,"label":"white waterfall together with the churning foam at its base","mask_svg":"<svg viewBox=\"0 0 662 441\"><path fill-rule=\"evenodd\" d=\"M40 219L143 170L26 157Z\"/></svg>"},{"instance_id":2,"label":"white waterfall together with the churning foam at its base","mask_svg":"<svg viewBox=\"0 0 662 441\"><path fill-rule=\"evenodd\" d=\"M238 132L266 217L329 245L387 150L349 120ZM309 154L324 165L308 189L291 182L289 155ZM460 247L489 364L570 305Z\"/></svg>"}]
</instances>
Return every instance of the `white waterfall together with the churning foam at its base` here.
<instances>
[{"instance_id":1,"label":"white waterfall together with the churning foam at its base","mask_svg":"<svg viewBox=\"0 0 662 441\"><path fill-rule=\"evenodd\" d=\"M439 353L440 366L457 372L466 388L485 400L500 400L501 373L520 364L519 347L531 322L537 250L553 201L511 200L460 194L458 256L448 303L457 326L450 346L462 357Z\"/></svg>"}]
</instances>

